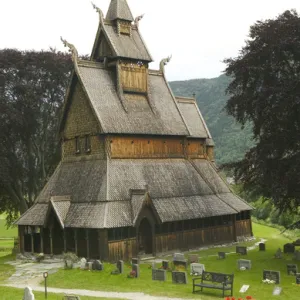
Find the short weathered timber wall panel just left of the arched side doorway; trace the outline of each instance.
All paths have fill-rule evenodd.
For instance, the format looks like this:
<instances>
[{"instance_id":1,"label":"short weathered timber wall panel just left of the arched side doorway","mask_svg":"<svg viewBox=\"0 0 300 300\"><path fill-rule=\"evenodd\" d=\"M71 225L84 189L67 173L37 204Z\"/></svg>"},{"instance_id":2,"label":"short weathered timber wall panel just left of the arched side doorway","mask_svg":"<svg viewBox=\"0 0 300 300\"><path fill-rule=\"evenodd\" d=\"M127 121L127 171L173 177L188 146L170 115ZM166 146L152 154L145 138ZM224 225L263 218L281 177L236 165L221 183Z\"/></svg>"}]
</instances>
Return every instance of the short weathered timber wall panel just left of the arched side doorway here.
<instances>
[{"instance_id":1,"label":"short weathered timber wall panel just left of the arched side doorway","mask_svg":"<svg viewBox=\"0 0 300 300\"><path fill-rule=\"evenodd\" d=\"M108 259L110 262L115 262L119 259L128 261L137 255L136 247L136 238L108 242Z\"/></svg>"}]
</instances>

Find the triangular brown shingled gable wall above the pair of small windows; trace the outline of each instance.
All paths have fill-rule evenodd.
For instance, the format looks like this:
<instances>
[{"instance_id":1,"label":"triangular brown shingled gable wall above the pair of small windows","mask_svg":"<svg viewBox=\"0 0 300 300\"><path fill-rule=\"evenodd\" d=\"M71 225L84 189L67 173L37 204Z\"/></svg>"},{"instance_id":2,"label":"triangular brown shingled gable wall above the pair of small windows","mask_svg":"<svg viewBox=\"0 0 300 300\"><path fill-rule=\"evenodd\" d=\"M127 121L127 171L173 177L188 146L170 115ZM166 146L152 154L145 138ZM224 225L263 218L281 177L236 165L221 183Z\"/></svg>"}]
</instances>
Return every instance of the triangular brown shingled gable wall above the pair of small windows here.
<instances>
[{"instance_id":1,"label":"triangular brown shingled gable wall above the pair of small windows","mask_svg":"<svg viewBox=\"0 0 300 300\"><path fill-rule=\"evenodd\" d=\"M70 100L70 107L64 128L64 137L70 139L75 136L99 133L98 121L80 83L75 85Z\"/></svg>"}]
</instances>

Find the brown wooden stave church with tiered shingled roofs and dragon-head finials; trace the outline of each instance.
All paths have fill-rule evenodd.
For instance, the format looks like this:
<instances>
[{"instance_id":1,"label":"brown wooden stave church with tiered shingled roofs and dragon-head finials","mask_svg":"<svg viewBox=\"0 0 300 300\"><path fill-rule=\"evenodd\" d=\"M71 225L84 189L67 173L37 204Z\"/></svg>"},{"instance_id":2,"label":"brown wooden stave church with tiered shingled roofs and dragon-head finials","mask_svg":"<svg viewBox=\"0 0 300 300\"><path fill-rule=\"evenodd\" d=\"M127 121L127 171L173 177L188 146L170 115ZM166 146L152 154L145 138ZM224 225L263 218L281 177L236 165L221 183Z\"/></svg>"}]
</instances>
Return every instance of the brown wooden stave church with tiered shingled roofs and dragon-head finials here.
<instances>
[{"instance_id":1,"label":"brown wooden stave church with tiered shingled roofs and dragon-head finials","mask_svg":"<svg viewBox=\"0 0 300 300\"><path fill-rule=\"evenodd\" d=\"M21 252L108 261L252 235L251 207L214 165L194 98L175 97L126 0L111 0L89 61L74 72L60 133L62 160L17 221ZM192 91L191 91L192 92Z\"/></svg>"}]
</instances>

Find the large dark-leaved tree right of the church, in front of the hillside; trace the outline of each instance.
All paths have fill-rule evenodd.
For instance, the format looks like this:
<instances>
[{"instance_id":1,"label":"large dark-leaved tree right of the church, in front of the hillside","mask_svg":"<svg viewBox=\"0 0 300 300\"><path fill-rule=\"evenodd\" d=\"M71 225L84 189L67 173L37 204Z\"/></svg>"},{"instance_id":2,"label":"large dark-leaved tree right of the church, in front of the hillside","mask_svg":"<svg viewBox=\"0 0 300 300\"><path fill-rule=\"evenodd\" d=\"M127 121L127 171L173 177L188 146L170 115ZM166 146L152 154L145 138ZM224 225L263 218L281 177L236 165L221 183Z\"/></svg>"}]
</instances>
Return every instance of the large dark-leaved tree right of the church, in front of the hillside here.
<instances>
[{"instance_id":1,"label":"large dark-leaved tree right of the church, in front of the hillside","mask_svg":"<svg viewBox=\"0 0 300 300\"><path fill-rule=\"evenodd\" d=\"M237 58L225 60L233 78L227 113L253 125L252 147L228 164L245 189L271 198L281 211L300 204L300 17L285 11L250 27Z\"/></svg>"}]
</instances>

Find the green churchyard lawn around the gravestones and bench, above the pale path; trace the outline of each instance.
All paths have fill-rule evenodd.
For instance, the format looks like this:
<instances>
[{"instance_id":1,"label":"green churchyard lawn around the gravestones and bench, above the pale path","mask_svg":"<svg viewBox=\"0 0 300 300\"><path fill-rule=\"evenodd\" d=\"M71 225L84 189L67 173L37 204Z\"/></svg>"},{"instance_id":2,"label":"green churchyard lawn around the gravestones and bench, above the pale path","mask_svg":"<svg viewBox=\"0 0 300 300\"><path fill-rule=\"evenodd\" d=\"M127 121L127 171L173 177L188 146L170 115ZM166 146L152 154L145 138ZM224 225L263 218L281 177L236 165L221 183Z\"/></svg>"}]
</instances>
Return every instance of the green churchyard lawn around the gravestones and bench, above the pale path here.
<instances>
[{"instance_id":1,"label":"green churchyard lawn around the gravestones and bench, above the pale path","mask_svg":"<svg viewBox=\"0 0 300 300\"><path fill-rule=\"evenodd\" d=\"M283 259L275 259L274 253L278 247L283 248L283 244L289 240L280 235L277 229L253 223L254 235L257 238L266 238L266 251L259 252L258 249L248 251L247 256L237 254L227 255L225 260L218 260L216 254L219 248L199 251L201 263L205 264L206 270L234 273L234 295L236 298L246 298L251 295L256 300L278 299L272 296L274 285L266 285L261 282L262 270L281 271L282 297L289 300L298 300L300 286L295 284L295 277L288 276L286 272L287 263L296 263L292 260L292 255L284 255ZM248 243L249 244L249 243ZM220 248L222 251L234 251L234 247ZM240 271L237 269L237 259L244 258L252 261L252 269ZM110 272L115 269L114 265L105 264L103 272L83 271L79 269L59 270L59 272L49 276L49 286L59 288L90 289L116 292L144 292L151 295L166 297L195 298L211 300L221 297L220 290L204 289L203 293L192 294L192 276L188 274L187 285L172 284L171 273L167 274L166 282L152 281L151 269L148 264L140 265L140 278L130 279L127 274L130 272L130 266L125 267L125 274L111 275ZM298 269L300 265L298 264ZM243 284L250 285L245 294L239 293Z\"/></svg>"}]
</instances>

